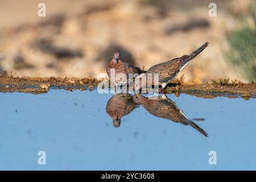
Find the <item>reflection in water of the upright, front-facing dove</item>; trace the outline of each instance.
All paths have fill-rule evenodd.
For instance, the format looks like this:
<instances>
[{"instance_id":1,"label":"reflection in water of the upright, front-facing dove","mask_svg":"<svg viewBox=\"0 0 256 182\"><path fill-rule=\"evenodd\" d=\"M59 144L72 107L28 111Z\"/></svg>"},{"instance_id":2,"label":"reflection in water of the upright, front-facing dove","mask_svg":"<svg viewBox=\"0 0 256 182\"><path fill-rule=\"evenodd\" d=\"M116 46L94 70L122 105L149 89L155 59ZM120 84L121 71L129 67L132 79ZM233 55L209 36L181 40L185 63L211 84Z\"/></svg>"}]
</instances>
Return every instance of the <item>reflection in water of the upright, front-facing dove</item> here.
<instances>
[{"instance_id":1,"label":"reflection in water of the upright, front-facing dove","mask_svg":"<svg viewBox=\"0 0 256 182\"><path fill-rule=\"evenodd\" d=\"M106 105L106 112L112 117L113 125L119 127L121 118L135 108L133 97L130 94L116 94L110 98Z\"/></svg>"}]
</instances>

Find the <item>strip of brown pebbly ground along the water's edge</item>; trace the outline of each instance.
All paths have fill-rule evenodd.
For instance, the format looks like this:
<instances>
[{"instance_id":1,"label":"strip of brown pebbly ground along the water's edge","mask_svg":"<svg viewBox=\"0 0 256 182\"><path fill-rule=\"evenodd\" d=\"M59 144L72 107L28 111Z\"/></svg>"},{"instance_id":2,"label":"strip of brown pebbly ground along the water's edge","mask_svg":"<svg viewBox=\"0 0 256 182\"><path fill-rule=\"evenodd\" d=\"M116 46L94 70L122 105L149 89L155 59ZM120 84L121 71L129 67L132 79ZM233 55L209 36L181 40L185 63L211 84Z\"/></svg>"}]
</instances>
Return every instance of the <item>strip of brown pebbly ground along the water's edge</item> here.
<instances>
[{"instance_id":1,"label":"strip of brown pebbly ground along the water's edge","mask_svg":"<svg viewBox=\"0 0 256 182\"><path fill-rule=\"evenodd\" d=\"M49 89L79 89L92 91L97 89L101 81L94 78L29 78L18 76L0 77L0 92L24 92L24 93L47 93ZM110 85L110 84L109 84ZM250 84L241 81L212 81L212 82L184 82L176 79L172 84L167 85L164 93L174 93L179 97L180 93L191 94L197 97L242 97L246 100L256 98L256 83Z\"/></svg>"}]
</instances>

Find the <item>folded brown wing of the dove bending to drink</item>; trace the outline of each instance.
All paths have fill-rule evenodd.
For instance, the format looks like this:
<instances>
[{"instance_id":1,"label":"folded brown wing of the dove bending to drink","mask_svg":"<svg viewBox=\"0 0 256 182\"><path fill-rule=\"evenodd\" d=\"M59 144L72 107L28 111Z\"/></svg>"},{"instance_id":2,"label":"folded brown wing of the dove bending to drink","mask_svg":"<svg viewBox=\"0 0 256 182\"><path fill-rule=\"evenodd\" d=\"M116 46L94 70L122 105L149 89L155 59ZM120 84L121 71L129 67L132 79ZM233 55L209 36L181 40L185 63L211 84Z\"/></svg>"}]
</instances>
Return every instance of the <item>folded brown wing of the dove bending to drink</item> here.
<instances>
[{"instance_id":1,"label":"folded brown wing of the dove bending to drink","mask_svg":"<svg viewBox=\"0 0 256 182\"><path fill-rule=\"evenodd\" d=\"M159 82L169 82L177 76L177 73L180 72L180 68L183 67L183 65L184 60L181 58L176 58L164 63L154 65L148 69L147 73L158 73Z\"/></svg>"}]
</instances>

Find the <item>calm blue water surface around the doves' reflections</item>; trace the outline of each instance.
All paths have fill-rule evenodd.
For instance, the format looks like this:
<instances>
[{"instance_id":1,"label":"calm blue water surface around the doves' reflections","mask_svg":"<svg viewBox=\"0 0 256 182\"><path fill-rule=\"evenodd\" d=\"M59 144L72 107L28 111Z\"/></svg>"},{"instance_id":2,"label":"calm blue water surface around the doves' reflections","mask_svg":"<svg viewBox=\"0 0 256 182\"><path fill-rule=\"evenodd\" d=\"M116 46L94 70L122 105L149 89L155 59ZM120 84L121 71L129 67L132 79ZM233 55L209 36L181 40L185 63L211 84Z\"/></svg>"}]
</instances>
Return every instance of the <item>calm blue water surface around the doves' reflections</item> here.
<instances>
[{"instance_id":1,"label":"calm blue water surface around the doves' reflections","mask_svg":"<svg viewBox=\"0 0 256 182\"><path fill-rule=\"evenodd\" d=\"M168 98L208 133L156 117L143 106L113 126L113 94L50 90L0 93L0 169L256 169L256 100ZM46 165L38 152L46 152ZM210 165L209 151L217 164Z\"/></svg>"}]
</instances>

